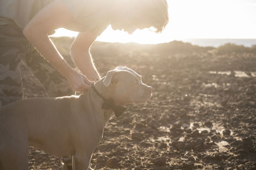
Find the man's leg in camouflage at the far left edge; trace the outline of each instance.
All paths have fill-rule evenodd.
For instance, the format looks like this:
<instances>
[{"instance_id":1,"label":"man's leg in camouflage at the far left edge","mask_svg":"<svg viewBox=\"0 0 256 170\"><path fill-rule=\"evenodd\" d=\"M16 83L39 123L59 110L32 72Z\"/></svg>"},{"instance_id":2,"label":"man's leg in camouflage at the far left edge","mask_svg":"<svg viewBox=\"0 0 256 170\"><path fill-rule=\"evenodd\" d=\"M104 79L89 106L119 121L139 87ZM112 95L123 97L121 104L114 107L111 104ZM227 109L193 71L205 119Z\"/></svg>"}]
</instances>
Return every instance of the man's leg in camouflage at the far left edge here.
<instances>
[{"instance_id":1,"label":"man's leg in camouflage at the far left edge","mask_svg":"<svg viewBox=\"0 0 256 170\"><path fill-rule=\"evenodd\" d=\"M0 17L0 106L22 99L20 55L26 41L12 20Z\"/></svg>"}]
</instances>

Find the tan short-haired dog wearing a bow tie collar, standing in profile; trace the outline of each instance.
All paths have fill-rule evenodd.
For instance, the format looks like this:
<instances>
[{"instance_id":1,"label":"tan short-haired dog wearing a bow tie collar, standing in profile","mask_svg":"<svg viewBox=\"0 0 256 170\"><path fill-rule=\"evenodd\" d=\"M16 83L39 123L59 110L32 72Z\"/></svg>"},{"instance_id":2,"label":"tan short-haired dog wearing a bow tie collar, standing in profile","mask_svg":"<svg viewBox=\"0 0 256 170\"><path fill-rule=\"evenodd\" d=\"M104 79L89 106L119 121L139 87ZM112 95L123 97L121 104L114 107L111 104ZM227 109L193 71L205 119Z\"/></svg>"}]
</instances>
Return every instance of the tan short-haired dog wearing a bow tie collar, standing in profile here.
<instances>
[{"instance_id":1,"label":"tan short-haired dog wearing a bow tie collar, standing in profile","mask_svg":"<svg viewBox=\"0 0 256 170\"><path fill-rule=\"evenodd\" d=\"M118 66L80 96L36 97L0 108L0 169L28 169L28 146L72 155L73 169L88 169L104 127L129 103L152 96L152 87Z\"/></svg>"}]
</instances>

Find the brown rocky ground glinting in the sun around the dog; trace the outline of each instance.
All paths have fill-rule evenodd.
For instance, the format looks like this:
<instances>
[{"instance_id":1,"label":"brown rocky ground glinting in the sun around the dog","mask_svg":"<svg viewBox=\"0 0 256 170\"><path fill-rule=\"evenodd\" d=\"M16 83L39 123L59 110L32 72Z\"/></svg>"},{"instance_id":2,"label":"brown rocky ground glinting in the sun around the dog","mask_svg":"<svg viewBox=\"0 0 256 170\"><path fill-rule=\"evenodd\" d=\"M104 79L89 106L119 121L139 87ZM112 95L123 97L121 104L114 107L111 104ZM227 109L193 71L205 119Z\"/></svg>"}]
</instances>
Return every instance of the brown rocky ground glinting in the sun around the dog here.
<instances>
[{"instance_id":1,"label":"brown rocky ground glinting in the sun around the dog","mask_svg":"<svg viewBox=\"0 0 256 170\"><path fill-rule=\"evenodd\" d=\"M109 120L92 169L256 169L255 53L131 49L92 48L102 76L127 66L154 87L146 103ZM44 96L23 71L27 97ZM30 169L60 167L60 157L30 148Z\"/></svg>"}]
</instances>

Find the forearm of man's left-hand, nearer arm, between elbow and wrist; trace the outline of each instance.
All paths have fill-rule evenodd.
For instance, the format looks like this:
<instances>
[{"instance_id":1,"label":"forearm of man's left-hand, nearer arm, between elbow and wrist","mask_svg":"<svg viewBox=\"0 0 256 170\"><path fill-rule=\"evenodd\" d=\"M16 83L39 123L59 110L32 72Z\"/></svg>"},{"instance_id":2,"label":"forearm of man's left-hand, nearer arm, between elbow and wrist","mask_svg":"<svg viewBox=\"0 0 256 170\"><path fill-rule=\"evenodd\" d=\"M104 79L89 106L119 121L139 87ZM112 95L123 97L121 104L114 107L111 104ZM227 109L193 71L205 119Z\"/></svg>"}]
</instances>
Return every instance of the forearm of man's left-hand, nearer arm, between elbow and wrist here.
<instances>
[{"instance_id":1,"label":"forearm of man's left-hand, nearer arm, between elbow and wrist","mask_svg":"<svg viewBox=\"0 0 256 170\"><path fill-rule=\"evenodd\" d=\"M38 50L52 66L56 67L65 78L70 76L73 71L72 67L68 66L66 60L63 59L47 34L32 31L25 36L32 45L35 46L36 50Z\"/></svg>"}]
</instances>

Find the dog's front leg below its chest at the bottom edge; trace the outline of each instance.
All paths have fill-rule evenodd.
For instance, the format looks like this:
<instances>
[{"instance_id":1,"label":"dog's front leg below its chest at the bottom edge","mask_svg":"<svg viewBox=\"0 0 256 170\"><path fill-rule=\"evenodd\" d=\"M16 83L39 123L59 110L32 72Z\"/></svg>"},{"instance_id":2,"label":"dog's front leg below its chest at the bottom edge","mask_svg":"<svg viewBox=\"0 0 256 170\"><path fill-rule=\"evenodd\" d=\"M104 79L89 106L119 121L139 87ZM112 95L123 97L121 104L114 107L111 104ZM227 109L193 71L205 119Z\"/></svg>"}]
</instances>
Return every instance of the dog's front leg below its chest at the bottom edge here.
<instances>
[{"instance_id":1,"label":"dog's front leg below its chest at the bottom edge","mask_svg":"<svg viewBox=\"0 0 256 170\"><path fill-rule=\"evenodd\" d=\"M77 154L73 157L73 169L75 170L87 170L92 158L91 154Z\"/></svg>"}]
</instances>

